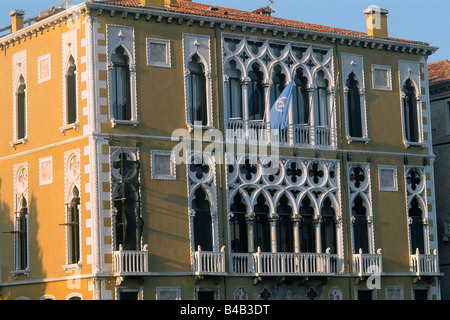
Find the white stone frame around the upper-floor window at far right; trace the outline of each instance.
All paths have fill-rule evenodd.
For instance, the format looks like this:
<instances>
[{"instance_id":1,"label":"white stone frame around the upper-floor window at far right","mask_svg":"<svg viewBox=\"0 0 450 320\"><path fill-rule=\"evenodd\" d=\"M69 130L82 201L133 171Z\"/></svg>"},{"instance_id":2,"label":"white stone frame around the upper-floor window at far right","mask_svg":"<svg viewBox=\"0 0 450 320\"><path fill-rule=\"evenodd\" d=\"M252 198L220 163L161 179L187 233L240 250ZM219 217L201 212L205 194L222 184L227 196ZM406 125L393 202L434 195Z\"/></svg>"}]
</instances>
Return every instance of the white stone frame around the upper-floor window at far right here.
<instances>
[{"instance_id":1,"label":"white stone frame around the upper-floor window at far right","mask_svg":"<svg viewBox=\"0 0 450 320\"><path fill-rule=\"evenodd\" d=\"M424 147L424 139L423 139L423 114L422 114L422 81L420 80L420 62L416 61L406 61L406 60L399 60L398 62L398 72L399 72L399 95L400 95L400 108L401 108L401 115L402 115L402 132L403 132L403 144L406 148L410 146L418 146L418 147ZM418 129L418 135L419 135L419 141L418 142L411 142L406 139L406 131L405 131L405 115L404 115L404 105L403 105L403 86L405 85L406 81L410 79L411 82L414 85L414 88L416 90L416 107L417 107L417 129Z\"/></svg>"}]
</instances>

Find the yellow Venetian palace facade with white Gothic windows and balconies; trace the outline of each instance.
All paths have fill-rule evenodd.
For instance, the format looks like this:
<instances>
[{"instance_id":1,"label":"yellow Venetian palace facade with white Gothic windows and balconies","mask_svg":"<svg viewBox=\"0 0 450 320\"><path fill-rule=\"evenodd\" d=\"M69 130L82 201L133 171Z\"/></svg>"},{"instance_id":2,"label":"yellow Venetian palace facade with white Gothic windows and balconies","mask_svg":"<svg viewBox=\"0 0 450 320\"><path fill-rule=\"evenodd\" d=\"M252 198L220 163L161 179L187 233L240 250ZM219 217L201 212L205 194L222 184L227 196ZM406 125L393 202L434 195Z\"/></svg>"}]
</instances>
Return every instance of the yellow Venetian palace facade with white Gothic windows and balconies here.
<instances>
[{"instance_id":1,"label":"yellow Venetian palace facade with white Gothic windows and balconies","mask_svg":"<svg viewBox=\"0 0 450 320\"><path fill-rule=\"evenodd\" d=\"M187 0L11 12L1 298L440 299L437 48L387 14L352 17L366 33Z\"/></svg>"}]
</instances>

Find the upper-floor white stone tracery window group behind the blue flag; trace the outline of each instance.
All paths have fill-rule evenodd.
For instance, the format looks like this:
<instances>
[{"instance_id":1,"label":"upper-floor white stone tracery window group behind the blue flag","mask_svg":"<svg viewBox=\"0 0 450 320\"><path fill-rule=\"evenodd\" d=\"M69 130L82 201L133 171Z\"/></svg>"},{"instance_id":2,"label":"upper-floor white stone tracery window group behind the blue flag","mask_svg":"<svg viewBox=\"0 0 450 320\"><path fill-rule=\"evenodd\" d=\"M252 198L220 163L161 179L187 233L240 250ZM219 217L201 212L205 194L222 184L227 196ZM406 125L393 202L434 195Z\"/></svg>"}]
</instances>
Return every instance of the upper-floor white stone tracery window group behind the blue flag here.
<instances>
[{"instance_id":1,"label":"upper-floor white stone tracery window group behind the blue flag","mask_svg":"<svg viewBox=\"0 0 450 320\"><path fill-rule=\"evenodd\" d=\"M223 36L224 92L231 66L242 76L242 117L229 108L226 128L249 132L247 139L269 141L269 111L284 87L295 82L289 125L280 143L302 146L335 146L335 110L332 48L254 37ZM226 101L226 103L227 103ZM230 133L231 135L232 133Z\"/></svg>"}]
</instances>

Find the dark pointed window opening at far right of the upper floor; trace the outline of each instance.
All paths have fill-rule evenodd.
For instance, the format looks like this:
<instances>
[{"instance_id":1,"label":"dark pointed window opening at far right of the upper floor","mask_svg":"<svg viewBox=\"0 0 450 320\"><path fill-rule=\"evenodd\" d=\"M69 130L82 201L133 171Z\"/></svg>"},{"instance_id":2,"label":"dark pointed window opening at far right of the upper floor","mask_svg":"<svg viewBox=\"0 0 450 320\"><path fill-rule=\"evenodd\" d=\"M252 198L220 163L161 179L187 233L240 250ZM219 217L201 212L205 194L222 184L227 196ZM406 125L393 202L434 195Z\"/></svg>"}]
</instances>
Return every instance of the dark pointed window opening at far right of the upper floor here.
<instances>
[{"instance_id":1,"label":"dark pointed window opening at far right of the upper floor","mask_svg":"<svg viewBox=\"0 0 450 320\"><path fill-rule=\"evenodd\" d=\"M408 142L420 142L417 93L411 79L406 80L402 90L403 128L405 130L405 139Z\"/></svg>"}]
</instances>

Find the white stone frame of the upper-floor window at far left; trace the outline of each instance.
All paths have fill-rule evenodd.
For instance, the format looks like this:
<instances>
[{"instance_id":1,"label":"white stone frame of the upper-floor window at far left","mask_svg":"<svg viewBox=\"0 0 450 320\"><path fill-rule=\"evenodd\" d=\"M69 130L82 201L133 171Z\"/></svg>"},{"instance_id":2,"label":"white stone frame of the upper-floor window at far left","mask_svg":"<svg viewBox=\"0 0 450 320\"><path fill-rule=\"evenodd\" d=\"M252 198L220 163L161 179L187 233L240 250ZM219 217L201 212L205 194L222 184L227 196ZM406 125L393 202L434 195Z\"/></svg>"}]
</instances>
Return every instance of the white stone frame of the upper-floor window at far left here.
<instances>
[{"instance_id":1,"label":"white stone frame of the upper-floor window at far left","mask_svg":"<svg viewBox=\"0 0 450 320\"><path fill-rule=\"evenodd\" d=\"M17 88L20 77L25 81L25 137L18 138ZM28 94L27 94L27 50L19 51L12 56L12 97L13 97L13 140L9 143L14 149L19 144L28 145Z\"/></svg>"}]
</instances>

